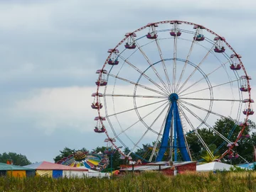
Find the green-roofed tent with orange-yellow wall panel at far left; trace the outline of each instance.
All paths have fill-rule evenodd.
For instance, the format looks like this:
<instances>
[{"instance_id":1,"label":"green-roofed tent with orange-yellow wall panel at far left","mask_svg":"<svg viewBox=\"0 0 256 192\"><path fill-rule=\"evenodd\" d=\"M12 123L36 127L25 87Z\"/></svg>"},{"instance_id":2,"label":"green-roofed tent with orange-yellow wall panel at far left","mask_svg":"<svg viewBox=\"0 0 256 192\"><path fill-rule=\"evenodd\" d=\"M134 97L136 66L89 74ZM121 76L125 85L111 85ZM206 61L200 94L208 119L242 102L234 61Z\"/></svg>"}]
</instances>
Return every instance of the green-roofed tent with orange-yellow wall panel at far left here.
<instances>
[{"instance_id":1,"label":"green-roofed tent with orange-yellow wall panel at far left","mask_svg":"<svg viewBox=\"0 0 256 192\"><path fill-rule=\"evenodd\" d=\"M0 163L0 176L6 175L14 177L34 176L35 169L23 166L16 166L13 164Z\"/></svg>"}]
</instances>

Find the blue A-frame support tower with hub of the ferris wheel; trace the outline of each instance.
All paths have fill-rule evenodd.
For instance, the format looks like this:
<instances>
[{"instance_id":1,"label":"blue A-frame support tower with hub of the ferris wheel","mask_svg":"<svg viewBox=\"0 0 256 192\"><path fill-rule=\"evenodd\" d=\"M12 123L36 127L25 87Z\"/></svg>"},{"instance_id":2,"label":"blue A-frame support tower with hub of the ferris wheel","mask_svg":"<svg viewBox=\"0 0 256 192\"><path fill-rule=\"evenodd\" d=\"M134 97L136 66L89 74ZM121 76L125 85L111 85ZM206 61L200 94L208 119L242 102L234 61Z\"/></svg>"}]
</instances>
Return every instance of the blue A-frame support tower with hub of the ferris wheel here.
<instances>
[{"instance_id":1,"label":"blue A-frame support tower with hub of the ferris wheel","mask_svg":"<svg viewBox=\"0 0 256 192\"><path fill-rule=\"evenodd\" d=\"M159 154L156 157L156 162L161 162L164 157L164 153L169 146L169 133L171 129L171 124L174 125L174 161L177 161L177 150L181 152L181 157L184 162L191 161L191 157L188 154L188 149L186 147L185 135L183 134L183 129L181 125L181 118L178 113L178 105L177 105L178 95L171 94L169 96L169 101L171 101L171 107L169 108L169 112L166 118L166 123L164 126L164 133L161 140L161 146L159 149ZM172 122L173 121L173 122ZM171 150L172 151L172 150Z\"/></svg>"}]
</instances>

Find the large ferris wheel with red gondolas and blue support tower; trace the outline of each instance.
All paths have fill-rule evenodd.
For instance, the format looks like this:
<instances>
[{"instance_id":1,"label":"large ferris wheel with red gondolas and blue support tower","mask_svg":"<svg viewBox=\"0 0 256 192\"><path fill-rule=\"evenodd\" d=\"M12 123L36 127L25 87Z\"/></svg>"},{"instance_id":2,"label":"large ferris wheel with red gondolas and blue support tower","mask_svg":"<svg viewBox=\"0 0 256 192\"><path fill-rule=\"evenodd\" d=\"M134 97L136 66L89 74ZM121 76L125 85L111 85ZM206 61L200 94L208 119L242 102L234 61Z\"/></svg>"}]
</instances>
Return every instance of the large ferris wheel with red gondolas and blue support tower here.
<instances>
[{"instance_id":1,"label":"large ferris wheel with red gondolas and blue support tower","mask_svg":"<svg viewBox=\"0 0 256 192\"><path fill-rule=\"evenodd\" d=\"M129 157L150 143L146 161L191 161L186 135L193 132L210 157L210 143L198 130L212 130L226 155L233 154L254 113L250 79L241 55L224 37L186 21L149 23L112 49L98 69L92 108L95 132L107 135L112 147ZM239 128L235 140L214 128L227 118ZM121 150L121 147L124 147ZM231 157L230 157L231 158Z\"/></svg>"}]
</instances>

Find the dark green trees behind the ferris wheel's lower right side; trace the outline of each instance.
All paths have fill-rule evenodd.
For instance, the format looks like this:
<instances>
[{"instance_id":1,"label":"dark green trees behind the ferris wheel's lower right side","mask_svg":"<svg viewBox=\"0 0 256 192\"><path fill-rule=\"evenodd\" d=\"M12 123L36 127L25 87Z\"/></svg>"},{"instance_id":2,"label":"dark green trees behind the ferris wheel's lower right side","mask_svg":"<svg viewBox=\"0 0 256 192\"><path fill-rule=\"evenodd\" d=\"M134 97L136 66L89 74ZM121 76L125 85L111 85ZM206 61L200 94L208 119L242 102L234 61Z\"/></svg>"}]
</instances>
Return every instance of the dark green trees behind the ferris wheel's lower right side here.
<instances>
[{"instance_id":1,"label":"dark green trees behind the ferris wheel's lower right side","mask_svg":"<svg viewBox=\"0 0 256 192\"><path fill-rule=\"evenodd\" d=\"M250 123L250 125L245 128L242 135L247 135L256 128L254 122L252 122L251 120L249 120L248 122ZM235 128L233 134L229 138L230 141L235 141L241 130L240 126L235 125L232 120L228 120L225 118L217 120L213 128L220 132L224 137L228 137L230 131ZM223 154L223 152L225 152L225 150L227 149L227 143L223 143L223 139L216 135L213 130L210 130L208 128L198 129L198 134L201 135L204 142L206 142L206 145L208 146L215 145L216 147L219 147L220 145L223 145L223 147L221 147L218 152L214 153L216 157L218 157L220 154ZM186 140L188 141L189 147L191 149L193 159L198 160L201 159L202 156L207 158L207 154L205 153L206 150L204 149L203 145L198 140L198 137L194 132L186 135ZM238 140L238 145L238 147L234 147L235 152L238 152L238 154L240 154L240 156L242 156L243 158L247 159L247 161L252 162L253 146L256 145L256 133L252 132L250 134L250 138L241 138L240 140ZM239 164L242 162L244 161L240 158L232 160L232 164Z\"/></svg>"}]
</instances>

